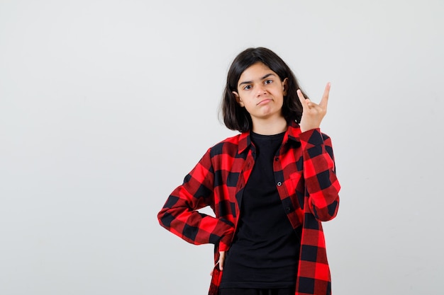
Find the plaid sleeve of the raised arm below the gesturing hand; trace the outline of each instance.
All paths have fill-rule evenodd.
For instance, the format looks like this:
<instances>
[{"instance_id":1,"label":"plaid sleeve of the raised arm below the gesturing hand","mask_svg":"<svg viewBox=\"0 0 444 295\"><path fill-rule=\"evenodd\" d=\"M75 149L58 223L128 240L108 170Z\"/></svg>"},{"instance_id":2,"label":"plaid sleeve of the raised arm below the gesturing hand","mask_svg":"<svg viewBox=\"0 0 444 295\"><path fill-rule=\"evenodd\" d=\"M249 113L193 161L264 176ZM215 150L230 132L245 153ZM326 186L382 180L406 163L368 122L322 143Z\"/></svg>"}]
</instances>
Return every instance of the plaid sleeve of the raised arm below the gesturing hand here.
<instances>
[{"instance_id":1,"label":"plaid sleeve of the raised arm below the gesturing hand","mask_svg":"<svg viewBox=\"0 0 444 295\"><path fill-rule=\"evenodd\" d=\"M340 190L331 139L320 129L302 132L300 139L310 211L319 221L331 220L338 213Z\"/></svg>"}]
</instances>

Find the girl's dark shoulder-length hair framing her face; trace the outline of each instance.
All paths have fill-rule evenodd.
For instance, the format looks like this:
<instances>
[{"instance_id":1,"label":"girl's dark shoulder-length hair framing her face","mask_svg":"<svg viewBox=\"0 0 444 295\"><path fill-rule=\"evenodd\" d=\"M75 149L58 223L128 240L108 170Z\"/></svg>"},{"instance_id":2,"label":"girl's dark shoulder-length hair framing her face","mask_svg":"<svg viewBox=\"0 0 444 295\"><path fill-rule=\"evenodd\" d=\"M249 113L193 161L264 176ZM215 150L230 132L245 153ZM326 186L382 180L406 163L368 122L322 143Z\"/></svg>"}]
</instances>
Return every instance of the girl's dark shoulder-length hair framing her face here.
<instances>
[{"instance_id":1,"label":"girl's dark shoulder-length hair framing her face","mask_svg":"<svg viewBox=\"0 0 444 295\"><path fill-rule=\"evenodd\" d=\"M240 107L233 91L238 91L238 82L243 71L257 62L262 62L262 64L268 66L279 76L281 81L288 79L288 91L287 96L284 96L282 115L288 123L293 120L300 122L302 106L296 93L297 89L299 89L296 76L277 54L265 47L256 47L240 52L233 60L230 69L228 69L227 83L223 91L221 103L223 123L228 129L238 130L239 132L246 132L252 128L250 114L245 108ZM304 92L302 93L305 98L308 98Z\"/></svg>"}]
</instances>

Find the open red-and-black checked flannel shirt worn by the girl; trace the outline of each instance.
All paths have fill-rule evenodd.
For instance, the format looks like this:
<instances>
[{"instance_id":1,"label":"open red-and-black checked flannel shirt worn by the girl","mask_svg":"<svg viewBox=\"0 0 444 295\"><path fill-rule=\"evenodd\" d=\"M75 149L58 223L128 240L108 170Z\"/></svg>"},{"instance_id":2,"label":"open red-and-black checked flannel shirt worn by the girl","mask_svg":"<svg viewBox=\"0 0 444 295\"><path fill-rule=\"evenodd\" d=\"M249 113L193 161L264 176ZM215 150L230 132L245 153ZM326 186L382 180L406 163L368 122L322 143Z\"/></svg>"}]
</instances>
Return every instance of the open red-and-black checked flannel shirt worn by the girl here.
<instances>
[{"instance_id":1,"label":"open red-and-black checked flannel shirt worn by the girl","mask_svg":"<svg viewBox=\"0 0 444 295\"><path fill-rule=\"evenodd\" d=\"M250 132L211 147L185 177L158 219L165 229L196 245L213 243L228 250L239 220L240 200L255 164ZM340 185L335 174L331 139L320 129L301 132L295 122L287 128L274 158L274 180L293 228L302 226L296 295L331 294L331 276L321 221L338 212ZM211 206L215 217L198 212ZM209 295L217 295L222 272L213 270Z\"/></svg>"}]
</instances>

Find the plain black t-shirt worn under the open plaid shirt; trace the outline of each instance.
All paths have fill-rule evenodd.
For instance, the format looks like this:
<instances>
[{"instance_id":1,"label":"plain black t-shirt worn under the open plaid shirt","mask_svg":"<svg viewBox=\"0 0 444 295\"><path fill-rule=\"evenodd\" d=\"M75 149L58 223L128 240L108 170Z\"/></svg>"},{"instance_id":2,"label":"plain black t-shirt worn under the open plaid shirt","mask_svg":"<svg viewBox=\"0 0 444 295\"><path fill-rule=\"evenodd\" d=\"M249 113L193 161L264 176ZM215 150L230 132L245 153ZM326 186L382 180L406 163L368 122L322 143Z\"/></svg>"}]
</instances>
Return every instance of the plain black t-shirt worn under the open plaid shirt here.
<instances>
[{"instance_id":1,"label":"plain black t-shirt worn under the open plaid shirt","mask_svg":"<svg viewBox=\"0 0 444 295\"><path fill-rule=\"evenodd\" d=\"M243 192L238 231L226 253L221 288L279 288L296 284L300 231L294 231L279 198L273 159L284 133L250 132L255 166Z\"/></svg>"}]
</instances>

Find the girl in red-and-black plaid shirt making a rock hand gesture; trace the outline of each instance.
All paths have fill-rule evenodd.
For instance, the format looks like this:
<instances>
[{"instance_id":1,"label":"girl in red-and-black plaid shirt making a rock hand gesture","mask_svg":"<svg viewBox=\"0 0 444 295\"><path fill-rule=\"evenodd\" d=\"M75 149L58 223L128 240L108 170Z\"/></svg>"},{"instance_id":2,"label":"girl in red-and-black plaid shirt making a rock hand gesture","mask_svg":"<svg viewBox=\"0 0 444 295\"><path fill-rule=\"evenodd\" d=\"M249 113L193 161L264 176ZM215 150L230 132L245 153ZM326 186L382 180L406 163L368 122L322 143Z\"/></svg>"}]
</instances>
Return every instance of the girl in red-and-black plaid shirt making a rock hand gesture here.
<instances>
[{"instance_id":1,"label":"girl in red-and-black plaid shirt making a rock hand gesture","mask_svg":"<svg viewBox=\"0 0 444 295\"><path fill-rule=\"evenodd\" d=\"M235 57L221 106L240 134L208 149L158 214L185 241L215 245L209 295L331 294L321 221L337 214L340 185L319 129L329 91L313 103L267 48Z\"/></svg>"}]
</instances>

